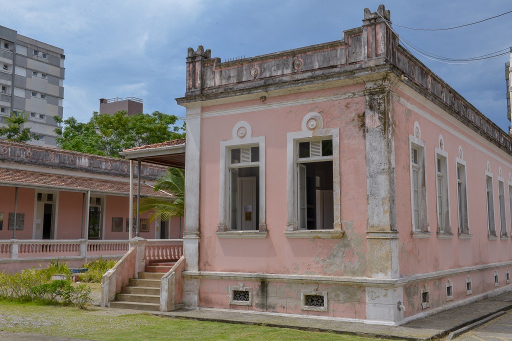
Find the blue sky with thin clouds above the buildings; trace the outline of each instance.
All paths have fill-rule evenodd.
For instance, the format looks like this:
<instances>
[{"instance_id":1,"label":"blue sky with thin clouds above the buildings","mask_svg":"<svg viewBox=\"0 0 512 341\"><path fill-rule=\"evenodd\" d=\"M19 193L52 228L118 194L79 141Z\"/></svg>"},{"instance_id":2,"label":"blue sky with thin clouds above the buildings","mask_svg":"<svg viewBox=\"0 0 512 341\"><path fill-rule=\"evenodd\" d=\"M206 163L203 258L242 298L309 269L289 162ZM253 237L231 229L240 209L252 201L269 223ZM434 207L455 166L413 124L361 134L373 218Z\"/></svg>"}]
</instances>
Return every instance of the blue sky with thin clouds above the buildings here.
<instances>
[{"instance_id":1,"label":"blue sky with thin clouds above the buildings","mask_svg":"<svg viewBox=\"0 0 512 341\"><path fill-rule=\"evenodd\" d=\"M246 57L342 39L361 25L363 10L379 1L334 0L16 0L2 4L0 25L66 54L64 116L87 121L99 98L135 96L144 112L184 116L174 98L185 91L188 47L213 57ZM444 28L512 10L508 0L385 3L394 24ZM400 36L436 55L467 58L512 45L512 13L451 31L395 27ZM508 55L469 65L447 65L414 53L477 109L507 130L505 62Z\"/></svg>"}]
</instances>

